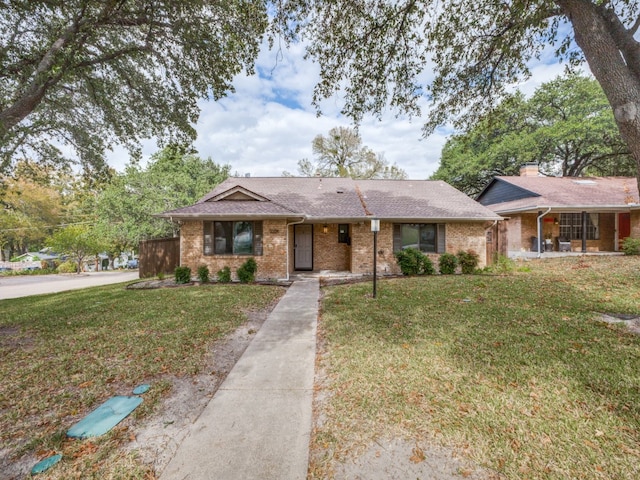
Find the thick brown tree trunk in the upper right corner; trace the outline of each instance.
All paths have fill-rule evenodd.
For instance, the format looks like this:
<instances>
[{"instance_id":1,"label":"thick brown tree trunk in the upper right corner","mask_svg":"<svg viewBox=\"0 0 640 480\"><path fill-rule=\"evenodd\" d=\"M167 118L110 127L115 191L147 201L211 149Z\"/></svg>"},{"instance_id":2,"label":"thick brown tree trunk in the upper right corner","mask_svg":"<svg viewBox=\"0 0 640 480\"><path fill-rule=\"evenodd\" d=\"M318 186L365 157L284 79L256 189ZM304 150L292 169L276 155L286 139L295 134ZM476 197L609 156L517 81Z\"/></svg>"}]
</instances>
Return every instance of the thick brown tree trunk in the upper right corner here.
<instances>
[{"instance_id":1,"label":"thick brown tree trunk in the upper right corner","mask_svg":"<svg viewBox=\"0 0 640 480\"><path fill-rule=\"evenodd\" d=\"M576 43L613 108L620 135L636 161L640 190L640 55L633 32L611 9L591 0L556 4L571 21Z\"/></svg>"}]
</instances>

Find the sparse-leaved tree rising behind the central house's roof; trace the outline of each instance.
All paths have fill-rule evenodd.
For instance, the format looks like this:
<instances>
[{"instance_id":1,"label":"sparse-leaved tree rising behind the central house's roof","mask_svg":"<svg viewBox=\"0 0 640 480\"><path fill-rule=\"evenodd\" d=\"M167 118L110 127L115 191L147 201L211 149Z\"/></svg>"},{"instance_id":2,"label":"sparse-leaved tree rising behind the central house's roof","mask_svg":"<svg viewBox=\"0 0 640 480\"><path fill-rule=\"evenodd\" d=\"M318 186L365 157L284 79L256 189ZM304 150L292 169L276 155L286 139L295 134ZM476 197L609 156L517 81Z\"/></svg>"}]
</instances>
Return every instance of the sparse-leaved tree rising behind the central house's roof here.
<instances>
[{"instance_id":1,"label":"sparse-leaved tree rising behind the central house's roof","mask_svg":"<svg viewBox=\"0 0 640 480\"><path fill-rule=\"evenodd\" d=\"M382 154L376 154L362 145L362 138L352 128L335 127L329 134L313 139L314 162L298 162L298 173L303 177L351 178L406 178L407 174L396 165L389 165ZM288 176L288 172L284 172Z\"/></svg>"}]
</instances>

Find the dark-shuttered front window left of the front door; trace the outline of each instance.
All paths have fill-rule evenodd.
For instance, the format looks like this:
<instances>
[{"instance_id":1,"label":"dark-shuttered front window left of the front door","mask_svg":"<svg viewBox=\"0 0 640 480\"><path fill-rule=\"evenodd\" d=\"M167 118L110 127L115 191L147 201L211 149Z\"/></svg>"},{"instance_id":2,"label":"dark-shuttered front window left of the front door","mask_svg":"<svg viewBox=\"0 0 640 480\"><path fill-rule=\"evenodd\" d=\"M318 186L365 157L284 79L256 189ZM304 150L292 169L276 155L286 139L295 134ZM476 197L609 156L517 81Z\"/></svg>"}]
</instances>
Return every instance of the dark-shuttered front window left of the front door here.
<instances>
[{"instance_id":1,"label":"dark-shuttered front window left of the front door","mask_svg":"<svg viewBox=\"0 0 640 480\"><path fill-rule=\"evenodd\" d=\"M205 255L262 255L262 222L204 222Z\"/></svg>"}]
</instances>

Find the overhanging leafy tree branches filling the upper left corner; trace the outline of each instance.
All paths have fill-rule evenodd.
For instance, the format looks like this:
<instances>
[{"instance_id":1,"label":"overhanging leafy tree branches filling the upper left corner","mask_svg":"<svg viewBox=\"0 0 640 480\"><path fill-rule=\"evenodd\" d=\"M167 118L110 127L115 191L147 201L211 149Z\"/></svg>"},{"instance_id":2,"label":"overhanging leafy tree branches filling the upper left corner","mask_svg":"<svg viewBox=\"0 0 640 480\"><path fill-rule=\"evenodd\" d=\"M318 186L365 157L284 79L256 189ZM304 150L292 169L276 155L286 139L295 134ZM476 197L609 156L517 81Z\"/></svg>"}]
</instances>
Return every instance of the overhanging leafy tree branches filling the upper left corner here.
<instances>
[{"instance_id":1,"label":"overhanging leafy tree branches filling the upper left corner","mask_svg":"<svg viewBox=\"0 0 640 480\"><path fill-rule=\"evenodd\" d=\"M100 170L114 143L188 142L199 99L252 71L258 0L48 0L0 4L0 172L71 147Z\"/></svg>"}]
</instances>

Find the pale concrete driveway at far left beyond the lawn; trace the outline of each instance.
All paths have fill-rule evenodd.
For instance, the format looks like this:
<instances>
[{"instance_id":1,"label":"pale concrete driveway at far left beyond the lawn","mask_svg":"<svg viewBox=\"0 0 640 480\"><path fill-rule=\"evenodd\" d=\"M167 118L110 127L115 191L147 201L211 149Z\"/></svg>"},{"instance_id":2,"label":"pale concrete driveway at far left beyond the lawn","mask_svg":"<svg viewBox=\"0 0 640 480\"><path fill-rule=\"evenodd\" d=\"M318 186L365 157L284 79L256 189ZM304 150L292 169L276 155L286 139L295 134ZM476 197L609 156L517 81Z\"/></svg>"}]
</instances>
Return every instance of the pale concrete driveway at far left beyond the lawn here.
<instances>
[{"instance_id":1,"label":"pale concrete driveway at far left beyond the lawn","mask_svg":"<svg viewBox=\"0 0 640 480\"><path fill-rule=\"evenodd\" d=\"M65 275L0 276L0 300L57 293L138 279L138 271L90 272Z\"/></svg>"}]
</instances>

